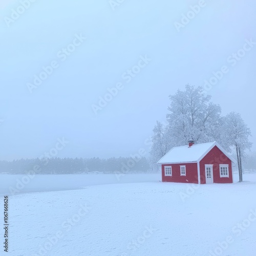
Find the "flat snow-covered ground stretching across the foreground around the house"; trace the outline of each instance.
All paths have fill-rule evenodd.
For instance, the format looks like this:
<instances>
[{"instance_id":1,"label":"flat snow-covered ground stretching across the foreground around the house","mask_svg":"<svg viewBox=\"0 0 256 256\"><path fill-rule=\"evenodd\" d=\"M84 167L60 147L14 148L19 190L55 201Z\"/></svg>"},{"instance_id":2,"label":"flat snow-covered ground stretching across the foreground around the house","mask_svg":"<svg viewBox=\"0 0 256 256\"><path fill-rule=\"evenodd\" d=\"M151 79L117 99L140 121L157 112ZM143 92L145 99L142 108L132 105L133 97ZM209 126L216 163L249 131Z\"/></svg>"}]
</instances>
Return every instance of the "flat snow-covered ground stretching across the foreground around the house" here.
<instances>
[{"instance_id":1,"label":"flat snow-covered ground stretching across the foreground around the house","mask_svg":"<svg viewBox=\"0 0 256 256\"><path fill-rule=\"evenodd\" d=\"M5 193L22 176L0 179ZM36 176L9 197L9 252L0 255L256 255L255 174L200 186L160 179Z\"/></svg>"}]
</instances>

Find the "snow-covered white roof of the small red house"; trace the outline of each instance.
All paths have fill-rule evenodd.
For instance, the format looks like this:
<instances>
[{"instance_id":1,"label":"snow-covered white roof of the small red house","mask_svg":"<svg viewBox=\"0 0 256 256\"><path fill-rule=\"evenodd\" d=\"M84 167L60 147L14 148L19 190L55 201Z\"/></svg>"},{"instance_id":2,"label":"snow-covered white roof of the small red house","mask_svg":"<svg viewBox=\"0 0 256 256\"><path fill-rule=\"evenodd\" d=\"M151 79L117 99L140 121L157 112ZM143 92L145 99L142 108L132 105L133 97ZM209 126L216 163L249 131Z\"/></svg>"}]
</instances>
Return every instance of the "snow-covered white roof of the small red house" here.
<instances>
[{"instance_id":1,"label":"snow-covered white roof of the small red house","mask_svg":"<svg viewBox=\"0 0 256 256\"><path fill-rule=\"evenodd\" d=\"M227 155L227 152L216 142L194 144L191 147L176 146L173 147L165 156L163 156L157 163L188 163L200 161L214 146L218 146L220 150L232 161L233 158Z\"/></svg>"}]
</instances>

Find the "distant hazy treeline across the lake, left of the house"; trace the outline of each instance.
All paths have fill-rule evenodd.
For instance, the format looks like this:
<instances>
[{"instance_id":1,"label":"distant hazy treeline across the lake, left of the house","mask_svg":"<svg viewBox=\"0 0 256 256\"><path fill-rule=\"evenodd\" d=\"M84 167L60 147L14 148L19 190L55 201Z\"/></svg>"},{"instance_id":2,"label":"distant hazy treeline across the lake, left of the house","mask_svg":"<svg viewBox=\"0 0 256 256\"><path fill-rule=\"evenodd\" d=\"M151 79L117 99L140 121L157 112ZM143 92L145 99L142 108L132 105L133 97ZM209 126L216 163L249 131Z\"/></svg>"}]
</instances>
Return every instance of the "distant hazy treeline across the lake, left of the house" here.
<instances>
[{"instance_id":1,"label":"distant hazy treeline across the lake, left of the house","mask_svg":"<svg viewBox=\"0 0 256 256\"><path fill-rule=\"evenodd\" d=\"M151 172L145 157L44 158L0 161L0 173L26 174L145 173Z\"/></svg>"}]
</instances>

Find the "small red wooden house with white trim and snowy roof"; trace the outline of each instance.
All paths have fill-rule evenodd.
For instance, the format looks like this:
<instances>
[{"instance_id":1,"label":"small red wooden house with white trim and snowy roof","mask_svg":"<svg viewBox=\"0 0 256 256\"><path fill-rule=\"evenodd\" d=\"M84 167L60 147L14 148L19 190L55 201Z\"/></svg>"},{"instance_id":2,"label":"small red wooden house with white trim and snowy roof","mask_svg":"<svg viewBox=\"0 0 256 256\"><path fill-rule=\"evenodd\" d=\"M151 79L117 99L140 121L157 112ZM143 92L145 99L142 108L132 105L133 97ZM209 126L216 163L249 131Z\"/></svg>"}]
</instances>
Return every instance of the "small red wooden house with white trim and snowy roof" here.
<instances>
[{"instance_id":1,"label":"small red wooden house with white trim and snowy roof","mask_svg":"<svg viewBox=\"0 0 256 256\"><path fill-rule=\"evenodd\" d=\"M158 162L163 182L232 183L232 167L236 160L230 157L216 141L173 147Z\"/></svg>"}]
</instances>

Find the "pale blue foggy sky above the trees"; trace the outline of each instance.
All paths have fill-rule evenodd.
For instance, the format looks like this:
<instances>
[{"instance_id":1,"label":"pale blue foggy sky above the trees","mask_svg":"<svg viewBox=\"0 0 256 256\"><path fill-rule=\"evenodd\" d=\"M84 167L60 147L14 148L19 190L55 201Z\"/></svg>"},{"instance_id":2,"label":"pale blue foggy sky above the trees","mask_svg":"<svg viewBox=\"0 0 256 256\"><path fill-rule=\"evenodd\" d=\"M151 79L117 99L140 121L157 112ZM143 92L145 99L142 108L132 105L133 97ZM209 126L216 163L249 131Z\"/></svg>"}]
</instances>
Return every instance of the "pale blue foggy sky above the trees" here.
<instances>
[{"instance_id":1,"label":"pale blue foggy sky above the trees","mask_svg":"<svg viewBox=\"0 0 256 256\"><path fill-rule=\"evenodd\" d=\"M168 95L187 83L204 86L223 66L226 73L206 93L223 115L240 112L255 142L256 3L205 0L177 29L199 3L125 0L112 8L108 0L37 0L15 16L21 3L1 1L0 159L148 152ZM244 56L235 58L245 44ZM31 89L50 65L52 73L48 68ZM108 89L117 95L96 108Z\"/></svg>"}]
</instances>

